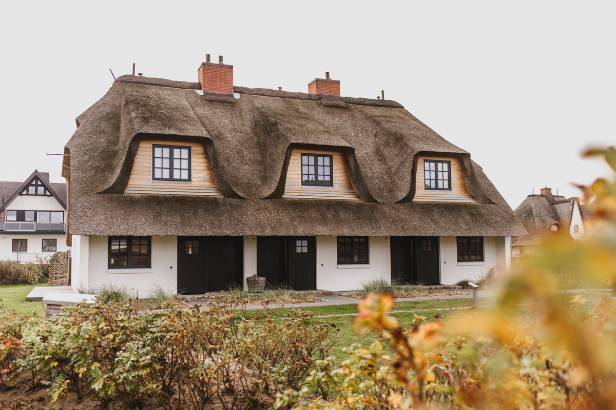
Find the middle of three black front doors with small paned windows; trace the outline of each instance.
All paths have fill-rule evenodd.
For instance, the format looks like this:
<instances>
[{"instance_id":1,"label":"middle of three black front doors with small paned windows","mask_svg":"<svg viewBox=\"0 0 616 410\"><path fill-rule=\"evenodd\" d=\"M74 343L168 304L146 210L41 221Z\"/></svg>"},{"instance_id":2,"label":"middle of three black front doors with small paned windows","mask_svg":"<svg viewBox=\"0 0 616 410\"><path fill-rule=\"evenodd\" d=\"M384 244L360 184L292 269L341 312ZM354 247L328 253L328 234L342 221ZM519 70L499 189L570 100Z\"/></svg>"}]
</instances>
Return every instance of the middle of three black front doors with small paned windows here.
<instances>
[{"instance_id":1,"label":"middle of three black front doors with small paned windows","mask_svg":"<svg viewBox=\"0 0 616 410\"><path fill-rule=\"evenodd\" d=\"M317 288L317 252L314 236L287 238L289 286L294 290Z\"/></svg>"}]
</instances>

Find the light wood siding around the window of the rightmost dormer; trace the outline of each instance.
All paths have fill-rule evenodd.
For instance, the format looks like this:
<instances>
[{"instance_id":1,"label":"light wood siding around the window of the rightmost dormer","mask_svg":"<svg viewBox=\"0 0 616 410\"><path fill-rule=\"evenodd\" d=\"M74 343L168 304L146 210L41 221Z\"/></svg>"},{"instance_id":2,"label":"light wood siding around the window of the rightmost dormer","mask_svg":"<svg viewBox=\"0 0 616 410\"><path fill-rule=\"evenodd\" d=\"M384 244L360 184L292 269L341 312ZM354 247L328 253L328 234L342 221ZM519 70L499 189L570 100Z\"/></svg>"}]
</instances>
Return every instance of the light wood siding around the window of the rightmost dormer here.
<instances>
[{"instance_id":1,"label":"light wood siding around the window of the rightmost dormer","mask_svg":"<svg viewBox=\"0 0 616 410\"><path fill-rule=\"evenodd\" d=\"M452 164L452 190L425 189L424 183L424 160L450 161ZM426 202L476 202L466 191L464 176L460 159L447 157L419 157L417 162L417 177L415 185L415 198L413 201Z\"/></svg>"}]
</instances>

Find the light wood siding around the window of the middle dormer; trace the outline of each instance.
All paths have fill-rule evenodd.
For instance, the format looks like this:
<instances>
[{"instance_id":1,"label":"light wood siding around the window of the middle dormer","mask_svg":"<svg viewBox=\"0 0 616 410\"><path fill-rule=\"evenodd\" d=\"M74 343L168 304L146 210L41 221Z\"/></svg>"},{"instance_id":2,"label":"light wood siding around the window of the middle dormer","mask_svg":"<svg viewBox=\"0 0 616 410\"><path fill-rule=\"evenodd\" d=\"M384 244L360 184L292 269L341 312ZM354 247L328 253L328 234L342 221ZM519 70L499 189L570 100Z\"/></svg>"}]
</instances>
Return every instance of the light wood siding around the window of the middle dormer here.
<instances>
[{"instance_id":1,"label":"light wood siding around the window of the middle dormer","mask_svg":"<svg viewBox=\"0 0 616 410\"><path fill-rule=\"evenodd\" d=\"M301 161L304 154L328 154L333 161L333 186L305 186L302 185ZM318 151L314 149L293 149L289 168L286 171L285 193L283 198L311 198L311 199L346 199L359 201L353 191L349 170L347 170L344 154L336 151Z\"/></svg>"}]
</instances>

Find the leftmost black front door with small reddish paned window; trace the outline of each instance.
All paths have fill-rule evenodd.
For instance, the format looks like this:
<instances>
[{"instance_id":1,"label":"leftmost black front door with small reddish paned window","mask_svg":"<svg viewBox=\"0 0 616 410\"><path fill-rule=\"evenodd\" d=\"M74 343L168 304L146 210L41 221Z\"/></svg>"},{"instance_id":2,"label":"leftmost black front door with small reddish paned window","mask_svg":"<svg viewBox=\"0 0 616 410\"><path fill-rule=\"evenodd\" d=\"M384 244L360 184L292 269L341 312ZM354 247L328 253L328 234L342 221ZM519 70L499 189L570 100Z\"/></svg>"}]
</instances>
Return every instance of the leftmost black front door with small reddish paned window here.
<instances>
[{"instance_id":1,"label":"leftmost black front door with small reddish paned window","mask_svg":"<svg viewBox=\"0 0 616 410\"><path fill-rule=\"evenodd\" d=\"M177 237L177 293L203 294L208 289L206 238Z\"/></svg>"}]
</instances>

